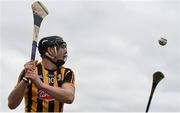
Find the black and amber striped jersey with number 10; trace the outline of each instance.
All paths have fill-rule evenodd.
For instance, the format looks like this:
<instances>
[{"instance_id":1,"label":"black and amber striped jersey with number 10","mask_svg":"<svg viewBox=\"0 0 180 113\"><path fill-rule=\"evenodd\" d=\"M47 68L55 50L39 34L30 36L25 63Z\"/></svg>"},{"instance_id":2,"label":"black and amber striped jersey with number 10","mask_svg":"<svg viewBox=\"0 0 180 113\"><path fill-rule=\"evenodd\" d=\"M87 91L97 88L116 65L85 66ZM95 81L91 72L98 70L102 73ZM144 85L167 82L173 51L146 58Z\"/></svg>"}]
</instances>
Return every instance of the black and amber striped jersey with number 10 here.
<instances>
[{"instance_id":1,"label":"black and amber striped jersey with number 10","mask_svg":"<svg viewBox=\"0 0 180 113\"><path fill-rule=\"evenodd\" d=\"M62 87L63 83L74 86L74 73L71 69L61 67L59 70L45 69L42 62L37 64L37 76L44 84L53 87ZM26 112L62 112L64 103L52 98L33 83L28 86L25 93Z\"/></svg>"}]
</instances>

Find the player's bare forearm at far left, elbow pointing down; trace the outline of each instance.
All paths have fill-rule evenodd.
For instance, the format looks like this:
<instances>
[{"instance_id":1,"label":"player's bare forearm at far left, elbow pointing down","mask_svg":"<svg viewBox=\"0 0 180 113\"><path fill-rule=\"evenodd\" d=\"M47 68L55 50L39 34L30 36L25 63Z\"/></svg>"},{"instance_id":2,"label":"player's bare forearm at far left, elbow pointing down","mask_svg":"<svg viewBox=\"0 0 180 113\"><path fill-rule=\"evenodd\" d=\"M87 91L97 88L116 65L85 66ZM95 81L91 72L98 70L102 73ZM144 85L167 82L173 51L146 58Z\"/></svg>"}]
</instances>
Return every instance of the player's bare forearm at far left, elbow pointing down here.
<instances>
[{"instance_id":1,"label":"player's bare forearm at far left, elbow pointing down","mask_svg":"<svg viewBox=\"0 0 180 113\"><path fill-rule=\"evenodd\" d=\"M8 96L8 106L10 109L15 109L22 101L25 90L26 84L24 81L21 81L14 90Z\"/></svg>"}]
</instances>

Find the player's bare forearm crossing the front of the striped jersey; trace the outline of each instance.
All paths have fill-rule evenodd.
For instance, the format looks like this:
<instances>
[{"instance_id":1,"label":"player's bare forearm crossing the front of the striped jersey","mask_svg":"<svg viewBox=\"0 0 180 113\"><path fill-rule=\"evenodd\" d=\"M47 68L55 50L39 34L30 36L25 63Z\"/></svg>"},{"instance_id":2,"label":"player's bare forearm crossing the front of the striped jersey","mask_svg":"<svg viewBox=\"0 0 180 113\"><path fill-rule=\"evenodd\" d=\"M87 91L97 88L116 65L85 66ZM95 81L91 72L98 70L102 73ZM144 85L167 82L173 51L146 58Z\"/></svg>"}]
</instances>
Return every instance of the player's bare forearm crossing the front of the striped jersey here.
<instances>
[{"instance_id":1,"label":"player's bare forearm crossing the front of the striped jersey","mask_svg":"<svg viewBox=\"0 0 180 113\"><path fill-rule=\"evenodd\" d=\"M74 93L71 90L52 87L46 84L43 84L42 90L60 102L71 104L74 100Z\"/></svg>"}]
</instances>

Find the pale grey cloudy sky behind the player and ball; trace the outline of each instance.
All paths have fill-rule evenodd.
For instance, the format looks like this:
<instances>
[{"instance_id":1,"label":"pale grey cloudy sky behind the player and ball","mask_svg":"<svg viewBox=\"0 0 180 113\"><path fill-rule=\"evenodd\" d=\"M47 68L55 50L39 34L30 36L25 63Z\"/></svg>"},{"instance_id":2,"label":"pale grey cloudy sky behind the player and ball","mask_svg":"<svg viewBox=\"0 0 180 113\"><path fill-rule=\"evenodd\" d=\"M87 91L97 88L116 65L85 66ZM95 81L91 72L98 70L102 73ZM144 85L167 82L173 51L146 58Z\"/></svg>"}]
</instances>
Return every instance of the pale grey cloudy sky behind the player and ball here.
<instances>
[{"instance_id":1,"label":"pale grey cloudy sky behind the player and ball","mask_svg":"<svg viewBox=\"0 0 180 113\"><path fill-rule=\"evenodd\" d=\"M0 111L30 59L35 0L0 1ZM74 112L144 112L152 74L165 75L153 112L180 111L179 0L41 0L49 15L39 39L59 35L68 44L66 67L76 75ZM165 37L166 46L158 40ZM37 51L36 59L40 60Z\"/></svg>"}]
</instances>

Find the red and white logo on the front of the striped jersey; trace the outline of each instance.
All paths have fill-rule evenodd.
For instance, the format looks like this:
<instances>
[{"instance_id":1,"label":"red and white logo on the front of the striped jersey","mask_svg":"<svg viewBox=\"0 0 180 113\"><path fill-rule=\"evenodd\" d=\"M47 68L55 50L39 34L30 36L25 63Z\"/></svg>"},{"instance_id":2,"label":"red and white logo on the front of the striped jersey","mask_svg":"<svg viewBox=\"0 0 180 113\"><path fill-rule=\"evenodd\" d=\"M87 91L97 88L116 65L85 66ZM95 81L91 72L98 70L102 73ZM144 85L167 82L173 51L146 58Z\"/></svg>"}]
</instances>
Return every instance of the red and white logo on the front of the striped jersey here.
<instances>
[{"instance_id":1,"label":"red and white logo on the front of the striped jersey","mask_svg":"<svg viewBox=\"0 0 180 113\"><path fill-rule=\"evenodd\" d=\"M48 101L52 101L54 100L54 98L52 98L50 95L48 95L47 93L45 93L44 91L40 90L38 92L38 98L40 100L48 100Z\"/></svg>"}]
</instances>

